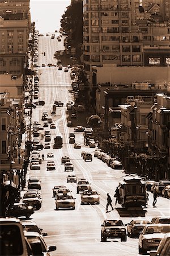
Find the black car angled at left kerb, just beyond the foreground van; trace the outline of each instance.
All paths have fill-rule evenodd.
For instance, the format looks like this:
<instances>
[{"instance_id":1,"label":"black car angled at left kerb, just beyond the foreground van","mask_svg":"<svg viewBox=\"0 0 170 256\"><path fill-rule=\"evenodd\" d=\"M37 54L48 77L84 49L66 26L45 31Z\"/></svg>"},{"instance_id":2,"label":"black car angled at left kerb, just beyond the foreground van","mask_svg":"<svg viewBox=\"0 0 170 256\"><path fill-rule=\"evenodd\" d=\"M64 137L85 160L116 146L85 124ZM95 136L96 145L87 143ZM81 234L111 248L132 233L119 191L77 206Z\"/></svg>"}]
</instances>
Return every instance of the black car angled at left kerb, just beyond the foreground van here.
<instances>
[{"instance_id":1,"label":"black car angled at left kerb, just beyond the foreground van","mask_svg":"<svg viewBox=\"0 0 170 256\"><path fill-rule=\"evenodd\" d=\"M29 218L31 214L34 213L34 210L31 206L28 206L26 204L20 204L15 203L10 210L8 210L8 214L10 217L21 217L25 216L26 218Z\"/></svg>"}]
</instances>

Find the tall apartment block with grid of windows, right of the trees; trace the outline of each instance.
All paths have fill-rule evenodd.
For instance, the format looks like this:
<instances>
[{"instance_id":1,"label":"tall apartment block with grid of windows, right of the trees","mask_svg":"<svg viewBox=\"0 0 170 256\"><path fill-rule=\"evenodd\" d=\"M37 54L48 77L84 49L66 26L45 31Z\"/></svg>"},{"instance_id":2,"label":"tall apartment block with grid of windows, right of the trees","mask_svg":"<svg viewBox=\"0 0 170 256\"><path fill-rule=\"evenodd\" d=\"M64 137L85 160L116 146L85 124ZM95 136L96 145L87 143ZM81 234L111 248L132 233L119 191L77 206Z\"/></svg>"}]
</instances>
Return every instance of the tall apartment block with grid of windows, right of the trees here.
<instances>
[{"instance_id":1,"label":"tall apartment block with grid of windows, right of the trees","mask_svg":"<svg viewBox=\"0 0 170 256\"><path fill-rule=\"evenodd\" d=\"M83 0L84 70L90 84L92 66L170 63L169 23L155 23L149 18L150 14L139 13L139 0ZM158 48L153 52L148 47L159 46L159 55L164 55L155 60Z\"/></svg>"}]
</instances>

